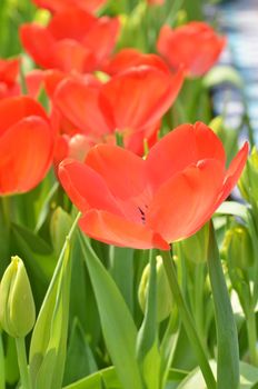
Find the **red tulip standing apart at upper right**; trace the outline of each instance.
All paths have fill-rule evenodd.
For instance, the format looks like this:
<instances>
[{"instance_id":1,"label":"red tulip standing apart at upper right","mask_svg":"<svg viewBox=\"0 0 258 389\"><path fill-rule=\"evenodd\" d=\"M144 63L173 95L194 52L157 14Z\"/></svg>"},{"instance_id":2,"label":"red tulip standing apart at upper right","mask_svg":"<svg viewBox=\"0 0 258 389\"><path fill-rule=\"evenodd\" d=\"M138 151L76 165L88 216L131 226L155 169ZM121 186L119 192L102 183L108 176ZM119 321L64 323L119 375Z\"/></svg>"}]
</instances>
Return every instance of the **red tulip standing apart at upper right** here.
<instances>
[{"instance_id":1,"label":"red tulip standing apart at upper right","mask_svg":"<svg viewBox=\"0 0 258 389\"><path fill-rule=\"evenodd\" d=\"M183 66L188 76L199 77L215 64L225 44L225 37L206 23L194 21L175 30L163 26L157 47L172 69Z\"/></svg>"}]
</instances>

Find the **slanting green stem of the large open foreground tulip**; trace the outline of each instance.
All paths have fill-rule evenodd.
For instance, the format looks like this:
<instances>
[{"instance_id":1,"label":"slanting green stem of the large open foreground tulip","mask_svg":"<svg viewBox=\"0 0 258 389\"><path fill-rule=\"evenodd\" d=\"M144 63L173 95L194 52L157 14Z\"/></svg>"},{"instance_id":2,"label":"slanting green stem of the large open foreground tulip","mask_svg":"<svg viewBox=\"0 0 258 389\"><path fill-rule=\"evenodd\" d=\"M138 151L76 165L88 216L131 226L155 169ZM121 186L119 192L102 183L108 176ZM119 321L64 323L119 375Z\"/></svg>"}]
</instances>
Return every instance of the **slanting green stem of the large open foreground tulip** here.
<instances>
[{"instance_id":1,"label":"slanting green stem of the large open foreground tulip","mask_svg":"<svg viewBox=\"0 0 258 389\"><path fill-rule=\"evenodd\" d=\"M180 287L178 285L177 273L172 262L171 255L169 251L161 251L161 257L162 257L163 267L168 277L170 290L172 292L172 296L178 307L180 319L182 320L182 325L187 332L188 339L191 342L191 346L196 352L196 357L200 366L202 376L205 378L207 388L216 389L216 381L215 381L214 373L211 371L209 361L206 357L199 336L194 326L192 318L189 313L186 301L182 297Z\"/></svg>"}]
</instances>

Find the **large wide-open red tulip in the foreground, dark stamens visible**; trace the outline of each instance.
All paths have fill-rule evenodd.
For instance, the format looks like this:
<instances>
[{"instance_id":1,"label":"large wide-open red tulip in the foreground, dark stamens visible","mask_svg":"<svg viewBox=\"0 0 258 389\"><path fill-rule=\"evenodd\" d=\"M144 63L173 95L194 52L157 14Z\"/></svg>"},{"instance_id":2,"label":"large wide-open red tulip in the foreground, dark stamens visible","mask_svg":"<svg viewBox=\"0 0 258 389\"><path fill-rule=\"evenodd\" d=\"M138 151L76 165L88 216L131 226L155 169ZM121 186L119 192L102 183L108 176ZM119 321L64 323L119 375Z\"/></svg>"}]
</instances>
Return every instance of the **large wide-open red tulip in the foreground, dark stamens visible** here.
<instances>
[{"instance_id":1,"label":"large wide-open red tulip in the foreground, dark stamens visible","mask_svg":"<svg viewBox=\"0 0 258 389\"><path fill-rule=\"evenodd\" d=\"M207 222L228 197L248 144L226 169L224 147L204 123L182 124L143 160L117 146L92 148L85 163L67 159L59 178L82 212L88 236L121 247L169 249Z\"/></svg>"}]
</instances>

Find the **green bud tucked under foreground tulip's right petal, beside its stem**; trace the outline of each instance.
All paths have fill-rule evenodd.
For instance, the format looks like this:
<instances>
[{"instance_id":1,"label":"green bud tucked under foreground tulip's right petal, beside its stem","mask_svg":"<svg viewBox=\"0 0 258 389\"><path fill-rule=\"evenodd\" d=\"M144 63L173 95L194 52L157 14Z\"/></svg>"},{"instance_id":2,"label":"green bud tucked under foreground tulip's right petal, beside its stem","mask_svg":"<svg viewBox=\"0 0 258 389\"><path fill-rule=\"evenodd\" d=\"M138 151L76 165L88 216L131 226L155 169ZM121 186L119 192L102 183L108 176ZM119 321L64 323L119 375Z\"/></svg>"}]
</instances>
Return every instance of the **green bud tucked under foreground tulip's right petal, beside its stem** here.
<instances>
[{"instance_id":1,"label":"green bud tucked under foreground tulip's right petal, beside its stem","mask_svg":"<svg viewBox=\"0 0 258 389\"><path fill-rule=\"evenodd\" d=\"M198 232L181 241L183 256L197 263L207 261L209 243L209 225L206 223Z\"/></svg>"}]
</instances>

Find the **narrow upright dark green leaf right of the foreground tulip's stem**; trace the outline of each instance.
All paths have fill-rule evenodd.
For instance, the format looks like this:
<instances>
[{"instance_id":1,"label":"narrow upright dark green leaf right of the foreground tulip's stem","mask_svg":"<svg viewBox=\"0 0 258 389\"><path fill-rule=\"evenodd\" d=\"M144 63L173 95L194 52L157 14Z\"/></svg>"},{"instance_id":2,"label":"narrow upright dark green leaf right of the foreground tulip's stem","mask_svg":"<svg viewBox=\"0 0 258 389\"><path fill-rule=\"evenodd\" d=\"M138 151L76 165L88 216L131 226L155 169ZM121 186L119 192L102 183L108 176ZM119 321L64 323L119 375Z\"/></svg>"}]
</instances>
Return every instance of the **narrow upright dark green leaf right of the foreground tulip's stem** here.
<instances>
[{"instance_id":1,"label":"narrow upright dark green leaf right of the foreground tulip's stem","mask_svg":"<svg viewBox=\"0 0 258 389\"><path fill-rule=\"evenodd\" d=\"M217 327L217 389L238 388L239 350L237 326L234 320L232 308L219 258L215 230L211 223L208 247L208 269Z\"/></svg>"}]
</instances>

